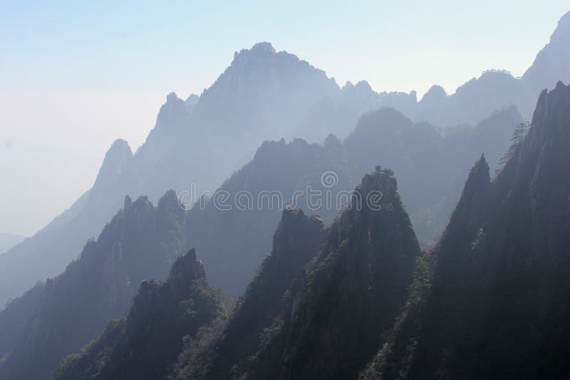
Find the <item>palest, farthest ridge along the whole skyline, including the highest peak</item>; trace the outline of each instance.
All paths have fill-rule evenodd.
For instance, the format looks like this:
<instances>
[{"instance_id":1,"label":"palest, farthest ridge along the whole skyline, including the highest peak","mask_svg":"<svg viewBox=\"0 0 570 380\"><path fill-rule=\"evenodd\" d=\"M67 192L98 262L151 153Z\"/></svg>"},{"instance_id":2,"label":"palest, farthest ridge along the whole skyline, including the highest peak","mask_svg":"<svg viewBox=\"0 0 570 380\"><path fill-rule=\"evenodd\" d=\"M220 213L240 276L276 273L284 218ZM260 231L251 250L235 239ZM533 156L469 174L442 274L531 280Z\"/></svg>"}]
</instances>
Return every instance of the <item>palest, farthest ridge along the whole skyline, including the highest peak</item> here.
<instances>
[{"instance_id":1,"label":"palest, farthest ridge along the whole skyline, including the highest peak","mask_svg":"<svg viewBox=\"0 0 570 380\"><path fill-rule=\"evenodd\" d=\"M527 117L539 89L554 85L548 73L568 78L564 73L570 66L561 64L568 51L564 49L567 19L561 19L551 43L522 80L488 72L465 83L454 95L434 87L420 102L415 93L375 93L366 82L339 88L322 70L290 53L275 51L269 43L236 53L227 70L200 97L182 100L168 95L155 128L134 155L125 142L113 144L93 189L32 238L0 255L0 305L38 280L61 273L86 239L97 236L120 209L125 194L157 201L167 189L187 189L191 182L199 190L215 189L248 161L264 139L304 137L322 142L330 132L343 138L364 112L383 106L435 127L476 125L512 104ZM556 70L553 65L558 65ZM419 217L429 219L432 212L426 210ZM426 232L429 238L434 231Z\"/></svg>"}]
</instances>

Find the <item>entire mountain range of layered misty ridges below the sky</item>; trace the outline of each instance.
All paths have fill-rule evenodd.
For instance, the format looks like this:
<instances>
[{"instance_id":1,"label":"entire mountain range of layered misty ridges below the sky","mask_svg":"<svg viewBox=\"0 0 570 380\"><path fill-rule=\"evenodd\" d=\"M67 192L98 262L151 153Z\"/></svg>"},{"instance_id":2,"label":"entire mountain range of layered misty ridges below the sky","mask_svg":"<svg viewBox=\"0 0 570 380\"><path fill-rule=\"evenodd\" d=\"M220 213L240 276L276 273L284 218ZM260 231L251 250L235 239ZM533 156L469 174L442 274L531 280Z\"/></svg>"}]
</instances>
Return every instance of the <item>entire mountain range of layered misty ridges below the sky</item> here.
<instances>
[{"instance_id":1,"label":"entire mountain range of layered misty ridges below the sky","mask_svg":"<svg viewBox=\"0 0 570 380\"><path fill-rule=\"evenodd\" d=\"M566 376L569 41L419 102L236 53L0 255L0 379Z\"/></svg>"}]
</instances>

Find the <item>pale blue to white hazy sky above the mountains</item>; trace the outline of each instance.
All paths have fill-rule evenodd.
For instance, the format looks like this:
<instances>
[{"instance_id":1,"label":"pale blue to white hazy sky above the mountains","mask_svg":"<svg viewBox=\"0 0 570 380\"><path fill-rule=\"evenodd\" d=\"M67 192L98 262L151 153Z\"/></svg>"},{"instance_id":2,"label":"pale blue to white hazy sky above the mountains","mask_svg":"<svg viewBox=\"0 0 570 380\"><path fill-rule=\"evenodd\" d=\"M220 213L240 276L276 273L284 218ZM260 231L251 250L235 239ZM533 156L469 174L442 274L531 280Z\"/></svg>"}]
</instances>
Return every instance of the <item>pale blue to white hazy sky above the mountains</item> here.
<instances>
[{"instance_id":1,"label":"pale blue to white hazy sky above the mountains","mask_svg":"<svg viewBox=\"0 0 570 380\"><path fill-rule=\"evenodd\" d=\"M79 3L83 5L78 5ZM0 231L31 235L90 188L114 139L144 142L165 95L201 93L270 41L377 91L522 75L567 0L0 3Z\"/></svg>"}]
</instances>

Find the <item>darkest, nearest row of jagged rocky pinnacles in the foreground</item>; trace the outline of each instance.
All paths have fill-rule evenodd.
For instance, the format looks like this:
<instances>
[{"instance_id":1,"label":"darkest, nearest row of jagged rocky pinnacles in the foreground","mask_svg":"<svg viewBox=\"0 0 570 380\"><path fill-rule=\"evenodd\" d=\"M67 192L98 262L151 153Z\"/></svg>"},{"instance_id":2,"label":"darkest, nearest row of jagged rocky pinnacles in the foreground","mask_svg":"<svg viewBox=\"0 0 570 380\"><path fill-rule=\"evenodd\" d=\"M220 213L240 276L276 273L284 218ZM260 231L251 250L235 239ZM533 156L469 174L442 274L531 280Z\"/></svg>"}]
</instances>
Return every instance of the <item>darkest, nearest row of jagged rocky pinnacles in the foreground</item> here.
<instances>
[{"instance_id":1,"label":"darkest, nearest row of jagged rocky pinnacles in the foreground","mask_svg":"<svg viewBox=\"0 0 570 380\"><path fill-rule=\"evenodd\" d=\"M143 283L126 323L143 316L138 326L151 333L123 347L128 328L115 326L125 320L113 322L63 361L56 379L134 379L125 371L133 361L140 379L564 378L569 143L570 86L559 83L541 93L532 127L494 179L484 155L475 162L435 247L420 250L393 171L376 167L328 226L285 210L235 310L207 314L197 332L180 329L167 365L143 359L159 349L157 321L189 304L201 310L209 293L145 312L138 303L153 298ZM382 198L371 196L378 191ZM219 298L206 299L216 310ZM195 315L182 320L190 325ZM147 376L155 368L163 371Z\"/></svg>"}]
</instances>

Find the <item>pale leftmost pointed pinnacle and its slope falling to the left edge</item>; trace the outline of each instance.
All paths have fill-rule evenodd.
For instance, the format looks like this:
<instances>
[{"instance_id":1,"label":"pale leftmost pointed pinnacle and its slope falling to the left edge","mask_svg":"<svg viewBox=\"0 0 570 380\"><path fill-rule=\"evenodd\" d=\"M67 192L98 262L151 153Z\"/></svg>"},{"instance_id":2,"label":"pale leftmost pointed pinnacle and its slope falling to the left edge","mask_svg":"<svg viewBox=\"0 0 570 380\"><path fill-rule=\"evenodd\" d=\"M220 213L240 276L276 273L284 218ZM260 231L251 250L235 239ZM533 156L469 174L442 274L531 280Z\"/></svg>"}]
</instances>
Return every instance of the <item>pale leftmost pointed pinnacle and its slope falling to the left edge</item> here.
<instances>
[{"instance_id":1,"label":"pale leftmost pointed pinnacle and its slope falling to the left edge","mask_svg":"<svg viewBox=\"0 0 570 380\"><path fill-rule=\"evenodd\" d=\"M114 142L92 189L46 228L0 255L0 310L6 301L22 295L38 280L61 273L87 239L98 236L127 194L118 193L118 181L131 159L128 144Z\"/></svg>"}]
</instances>

